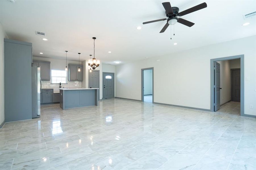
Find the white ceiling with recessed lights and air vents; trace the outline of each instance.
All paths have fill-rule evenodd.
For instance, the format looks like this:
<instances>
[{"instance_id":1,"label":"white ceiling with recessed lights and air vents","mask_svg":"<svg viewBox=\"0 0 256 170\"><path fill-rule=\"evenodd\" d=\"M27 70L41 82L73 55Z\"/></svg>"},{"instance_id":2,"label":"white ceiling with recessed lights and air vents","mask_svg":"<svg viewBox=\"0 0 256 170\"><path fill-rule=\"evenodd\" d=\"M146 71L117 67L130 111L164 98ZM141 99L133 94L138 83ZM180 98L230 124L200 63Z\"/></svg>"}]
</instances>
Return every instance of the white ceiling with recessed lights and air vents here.
<instances>
[{"instance_id":1,"label":"white ceiling with recessed lights and air vents","mask_svg":"<svg viewBox=\"0 0 256 170\"><path fill-rule=\"evenodd\" d=\"M206 2L207 8L182 16L195 25L175 24L159 33L166 21L142 25L165 17L162 1L41 1L8 0L0 2L0 19L10 39L33 43L33 55L47 58L81 60L93 54L104 63L122 63L171 54L209 44L256 34L256 17L244 20L244 14L256 11L254 0L170 1L180 11ZM242 26L250 22L250 25ZM136 27L141 26L141 30ZM35 31L46 33L49 41ZM174 46L173 43L178 45ZM108 53L111 51L112 53ZM43 52L43 54L39 54ZM171 57L171 56L170 56Z\"/></svg>"}]
</instances>

